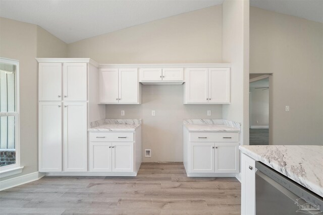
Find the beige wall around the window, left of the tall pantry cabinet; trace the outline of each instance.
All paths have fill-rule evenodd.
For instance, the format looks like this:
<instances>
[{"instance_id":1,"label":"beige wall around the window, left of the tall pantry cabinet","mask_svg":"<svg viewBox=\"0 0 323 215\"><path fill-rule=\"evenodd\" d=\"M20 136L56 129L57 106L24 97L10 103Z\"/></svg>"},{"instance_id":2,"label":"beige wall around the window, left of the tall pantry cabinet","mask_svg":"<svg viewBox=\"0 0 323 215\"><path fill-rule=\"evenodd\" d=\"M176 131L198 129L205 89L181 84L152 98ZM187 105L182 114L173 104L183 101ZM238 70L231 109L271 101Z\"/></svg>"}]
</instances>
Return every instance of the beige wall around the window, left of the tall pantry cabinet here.
<instances>
[{"instance_id":1,"label":"beige wall around the window, left of the tall pantry cabinet","mask_svg":"<svg viewBox=\"0 0 323 215\"><path fill-rule=\"evenodd\" d=\"M38 55L37 26L0 18L0 56L19 60L20 80L20 158L25 175L38 171L38 72L35 57L51 56L44 50ZM43 34L42 32L41 34ZM46 33L46 37L48 37ZM54 43L53 46L64 44ZM48 49L56 49L48 45ZM43 55L44 54L44 55ZM59 52L56 52L59 56ZM62 51L62 56L66 53Z\"/></svg>"}]
</instances>

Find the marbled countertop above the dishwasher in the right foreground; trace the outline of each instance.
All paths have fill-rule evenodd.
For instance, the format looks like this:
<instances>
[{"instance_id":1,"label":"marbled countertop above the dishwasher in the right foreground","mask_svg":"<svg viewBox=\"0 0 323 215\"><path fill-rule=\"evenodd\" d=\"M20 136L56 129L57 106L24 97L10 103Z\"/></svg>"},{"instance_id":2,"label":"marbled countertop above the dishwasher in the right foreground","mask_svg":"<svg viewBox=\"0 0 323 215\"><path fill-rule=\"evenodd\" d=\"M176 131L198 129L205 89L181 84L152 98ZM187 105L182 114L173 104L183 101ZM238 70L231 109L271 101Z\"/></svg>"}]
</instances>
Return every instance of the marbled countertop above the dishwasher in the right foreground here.
<instances>
[{"instance_id":1,"label":"marbled countertop above the dishwasher in the right foreground","mask_svg":"<svg viewBox=\"0 0 323 215\"><path fill-rule=\"evenodd\" d=\"M240 146L239 149L323 197L323 146Z\"/></svg>"}]
</instances>

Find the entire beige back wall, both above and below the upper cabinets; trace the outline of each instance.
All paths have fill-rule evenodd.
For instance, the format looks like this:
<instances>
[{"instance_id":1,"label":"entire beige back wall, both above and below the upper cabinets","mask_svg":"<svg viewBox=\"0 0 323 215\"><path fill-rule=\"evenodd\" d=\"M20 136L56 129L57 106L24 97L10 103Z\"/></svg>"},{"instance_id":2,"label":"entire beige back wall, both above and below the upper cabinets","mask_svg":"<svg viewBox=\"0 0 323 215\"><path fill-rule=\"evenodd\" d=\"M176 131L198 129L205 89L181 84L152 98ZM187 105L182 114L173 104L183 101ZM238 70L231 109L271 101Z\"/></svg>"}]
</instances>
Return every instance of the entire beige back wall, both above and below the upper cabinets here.
<instances>
[{"instance_id":1,"label":"entire beige back wall, both above and below the upper cabinets","mask_svg":"<svg viewBox=\"0 0 323 215\"><path fill-rule=\"evenodd\" d=\"M99 63L222 62L222 6L85 39L69 44L68 52ZM183 119L222 118L222 105L183 105L183 88L142 86L142 105L106 105L106 118L143 120L143 150L152 150L144 162L183 160Z\"/></svg>"}]
</instances>

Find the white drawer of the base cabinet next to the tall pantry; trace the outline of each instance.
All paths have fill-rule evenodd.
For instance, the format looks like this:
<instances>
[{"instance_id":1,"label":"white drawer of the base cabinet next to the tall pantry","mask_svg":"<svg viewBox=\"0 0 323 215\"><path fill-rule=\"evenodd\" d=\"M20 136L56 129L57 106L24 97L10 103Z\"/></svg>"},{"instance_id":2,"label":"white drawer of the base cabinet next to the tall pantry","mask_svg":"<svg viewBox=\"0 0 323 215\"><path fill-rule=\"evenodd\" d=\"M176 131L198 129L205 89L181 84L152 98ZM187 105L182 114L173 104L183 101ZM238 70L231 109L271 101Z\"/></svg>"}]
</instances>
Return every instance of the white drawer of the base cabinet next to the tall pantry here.
<instances>
[{"instance_id":1,"label":"white drawer of the base cabinet next to the tall pantry","mask_svg":"<svg viewBox=\"0 0 323 215\"><path fill-rule=\"evenodd\" d=\"M96 142L133 142L134 133L90 132L90 141Z\"/></svg>"}]
</instances>

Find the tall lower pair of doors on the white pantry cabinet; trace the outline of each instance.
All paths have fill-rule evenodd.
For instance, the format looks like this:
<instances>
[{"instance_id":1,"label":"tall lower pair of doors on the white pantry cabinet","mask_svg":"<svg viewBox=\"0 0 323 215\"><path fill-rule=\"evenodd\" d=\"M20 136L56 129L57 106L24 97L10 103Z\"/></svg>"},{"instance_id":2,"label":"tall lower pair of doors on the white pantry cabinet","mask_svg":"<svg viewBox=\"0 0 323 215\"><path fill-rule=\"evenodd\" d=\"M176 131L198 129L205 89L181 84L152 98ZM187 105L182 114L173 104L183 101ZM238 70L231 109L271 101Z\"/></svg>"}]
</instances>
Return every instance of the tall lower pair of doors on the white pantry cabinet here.
<instances>
[{"instance_id":1,"label":"tall lower pair of doors on the white pantry cabinet","mask_svg":"<svg viewBox=\"0 0 323 215\"><path fill-rule=\"evenodd\" d=\"M87 171L87 103L39 102L39 172Z\"/></svg>"}]
</instances>

